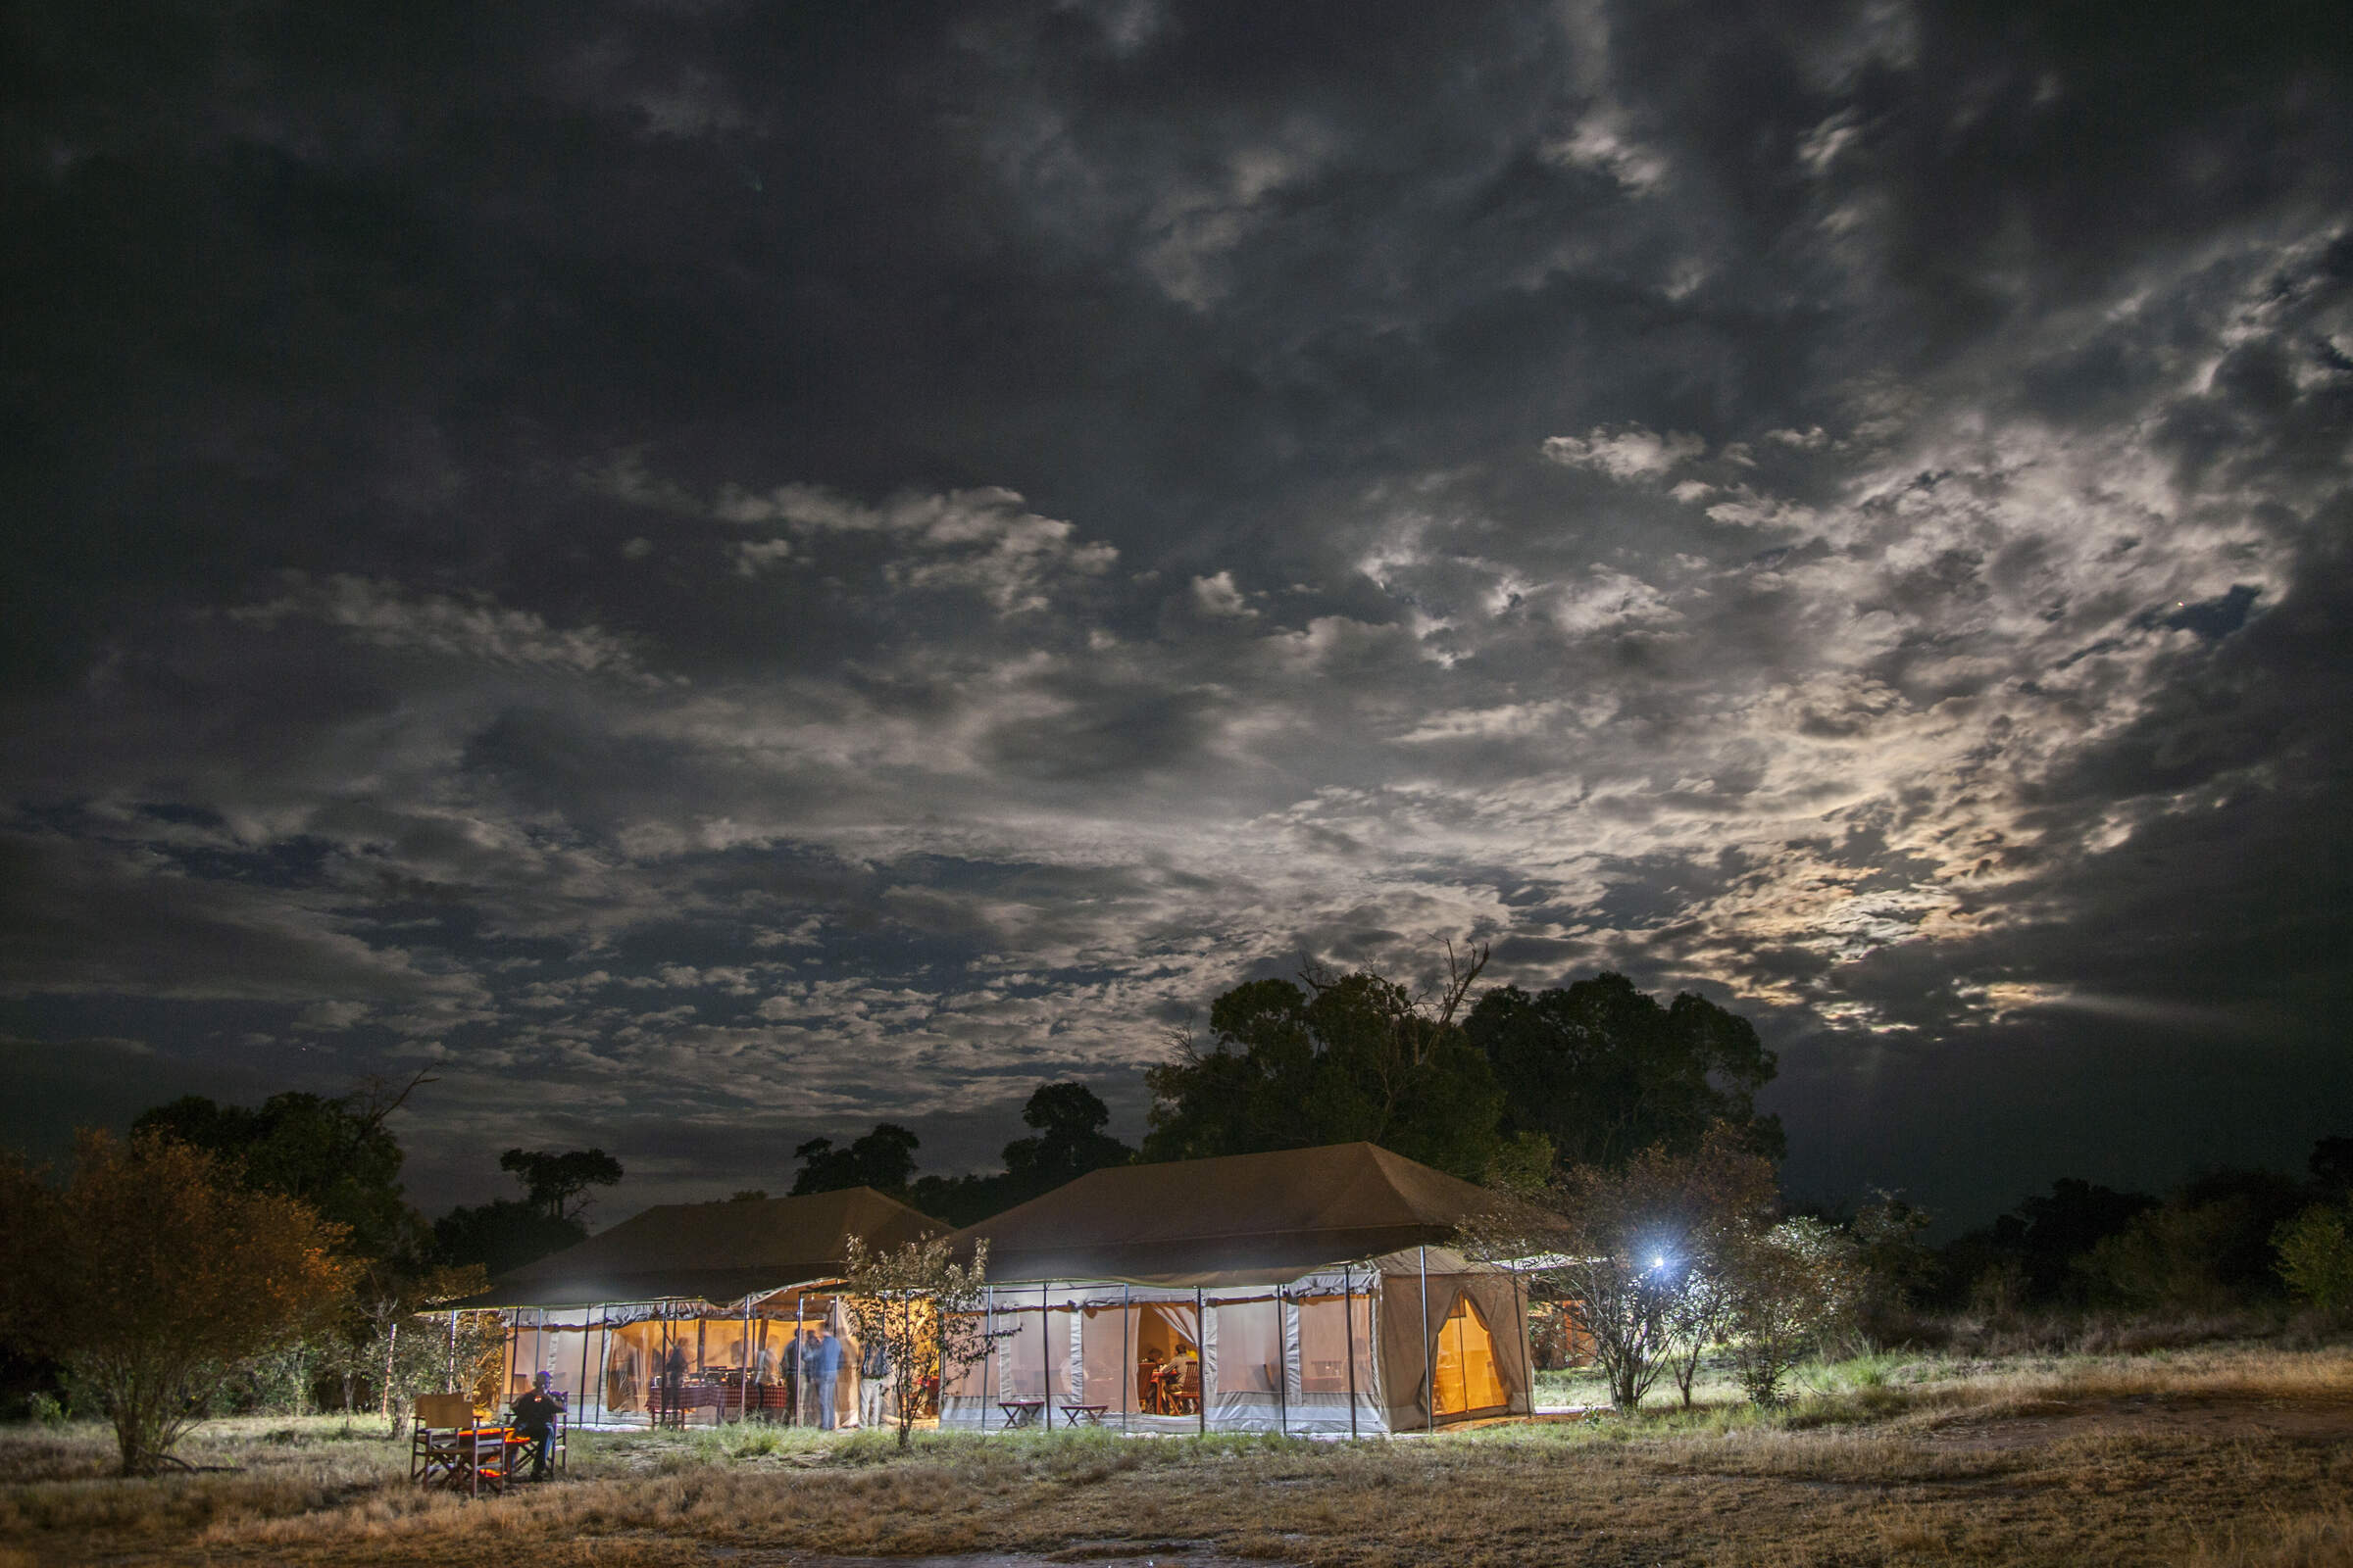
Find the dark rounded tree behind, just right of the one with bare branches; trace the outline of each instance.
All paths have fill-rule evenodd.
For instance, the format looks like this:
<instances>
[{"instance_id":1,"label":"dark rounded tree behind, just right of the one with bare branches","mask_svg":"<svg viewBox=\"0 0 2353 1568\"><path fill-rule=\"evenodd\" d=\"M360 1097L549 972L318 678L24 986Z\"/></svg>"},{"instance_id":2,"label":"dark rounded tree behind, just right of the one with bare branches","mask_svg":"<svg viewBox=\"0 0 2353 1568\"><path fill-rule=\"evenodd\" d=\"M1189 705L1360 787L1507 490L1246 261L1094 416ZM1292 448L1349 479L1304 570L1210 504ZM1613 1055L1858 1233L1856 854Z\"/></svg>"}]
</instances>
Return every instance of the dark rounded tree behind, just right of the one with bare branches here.
<instances>
[{"instance_id":1,"label":"dark rounded tree behind, just right of the one with bare branches","mask_svg":"<svg viewBox=\"0 0 2353 1568\"><path fill-rule=\"evenodd\" d=\"M1706 997L1659 1001L1619 973L1534 997L1504 985L1464 1020L1504 1091L1504 1131L1541 1133L1567 1166L1619 1166L1652 1145L1689 1152L1718 1121L1765 1154L1781 1119L1755 1112L1777 1060L1755 1027Z\"/></svg>"}]
</instances>

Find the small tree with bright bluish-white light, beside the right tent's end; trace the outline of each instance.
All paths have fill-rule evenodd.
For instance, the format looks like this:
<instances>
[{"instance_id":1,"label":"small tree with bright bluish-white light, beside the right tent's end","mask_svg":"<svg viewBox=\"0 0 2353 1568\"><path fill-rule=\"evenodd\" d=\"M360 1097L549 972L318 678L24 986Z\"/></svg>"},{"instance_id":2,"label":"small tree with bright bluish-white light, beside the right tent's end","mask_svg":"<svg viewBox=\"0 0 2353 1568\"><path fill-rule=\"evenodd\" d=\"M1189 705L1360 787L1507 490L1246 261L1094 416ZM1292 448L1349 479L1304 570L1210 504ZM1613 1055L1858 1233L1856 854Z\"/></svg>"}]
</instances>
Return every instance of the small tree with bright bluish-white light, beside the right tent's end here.
<instances>
[{"instance_id":1,"label":"small tree with bright bluish-white light, beside the right tent's end","mask_svg":"<svg viewBox=\"0 0 2353 1568\"><path fill-rule=\"evenodd\" d=\"M1652 1145L1621 1168L1574 1166L1546 1190L1546 1220L1499 1211L1464 1239L1489 1260L1546 1258L1532 1284L1593 1345L1609 1403L1633 1410L1678 1363L1689 1399L1699 1349L1727 1309L1732 1253L1772 1206L1772 1161L1746 1128L1720 1124L1685 1154Z\"/></svg>"}]
</instances>

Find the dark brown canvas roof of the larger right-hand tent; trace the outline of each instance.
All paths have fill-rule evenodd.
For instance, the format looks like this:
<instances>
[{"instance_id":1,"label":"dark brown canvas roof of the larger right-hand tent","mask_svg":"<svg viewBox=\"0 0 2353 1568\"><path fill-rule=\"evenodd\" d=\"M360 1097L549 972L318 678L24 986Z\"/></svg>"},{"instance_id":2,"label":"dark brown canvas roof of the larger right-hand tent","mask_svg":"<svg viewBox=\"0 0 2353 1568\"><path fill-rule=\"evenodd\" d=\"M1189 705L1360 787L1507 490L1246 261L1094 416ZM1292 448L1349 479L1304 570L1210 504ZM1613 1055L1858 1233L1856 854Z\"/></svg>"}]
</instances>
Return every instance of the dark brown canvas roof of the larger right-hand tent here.
<instances>
[{"instance_id":1,"label":"dark brown canvas roof of the larger right-hand tent","mask_svg":"<svg viewBox=\"0 0 2353 1568\"><path fill-rule=\"evenodd\" d=\"M1369 1143L1111 1166L955 1234L988 1279L1282 1284L1327 1262L1452 1244L1506 1199Z\"/></svg>"}]
</instances>

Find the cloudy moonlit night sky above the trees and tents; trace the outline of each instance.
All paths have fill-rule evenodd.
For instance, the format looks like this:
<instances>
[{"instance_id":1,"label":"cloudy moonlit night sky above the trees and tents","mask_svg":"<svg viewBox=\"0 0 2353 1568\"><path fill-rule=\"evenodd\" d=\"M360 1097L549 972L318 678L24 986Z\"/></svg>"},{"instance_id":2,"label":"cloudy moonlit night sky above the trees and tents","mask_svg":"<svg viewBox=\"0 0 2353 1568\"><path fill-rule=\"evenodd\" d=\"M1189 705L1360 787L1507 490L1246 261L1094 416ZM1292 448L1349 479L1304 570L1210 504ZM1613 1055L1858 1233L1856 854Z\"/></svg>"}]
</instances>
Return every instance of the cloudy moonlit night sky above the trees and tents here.
<instances>
[{"instance_id":1,"label":"cloudy moonlit night sky above the trees and tents","mask_svg":"<svg viewBox=\"0 0 2353 1568\"><path fill-rule=\"evenodd\" d=\"M1447 936L1798 1194L2353 1133L2341 5L0 26L19 1147L960 1171Z\"/></svg>"}]
</instances>

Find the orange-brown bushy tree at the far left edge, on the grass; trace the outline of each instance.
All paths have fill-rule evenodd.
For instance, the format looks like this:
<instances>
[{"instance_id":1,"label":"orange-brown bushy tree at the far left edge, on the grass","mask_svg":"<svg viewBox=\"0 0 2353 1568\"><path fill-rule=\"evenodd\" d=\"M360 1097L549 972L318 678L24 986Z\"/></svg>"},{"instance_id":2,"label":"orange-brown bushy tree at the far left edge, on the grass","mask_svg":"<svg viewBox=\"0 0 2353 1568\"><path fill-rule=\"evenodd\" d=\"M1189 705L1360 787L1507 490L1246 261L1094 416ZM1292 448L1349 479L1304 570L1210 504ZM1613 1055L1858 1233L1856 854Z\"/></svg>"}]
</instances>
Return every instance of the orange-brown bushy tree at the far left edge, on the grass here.
<instances>
[{"instance_id":1,"label":"orange-brown bushy tree at the far left edge, on the grass","mask_svg":"<svg viewBox=\"0 0 2353 1568\"><path fill-rule=\"evenodd\" d=\"M240 1363L344 1300L344 1241L207 1150L85 1131L64 1190L0 1157L0 1331L64 1361L104 1403L122 1474L151 1474Z\"/></svg>"}]
</instances>

